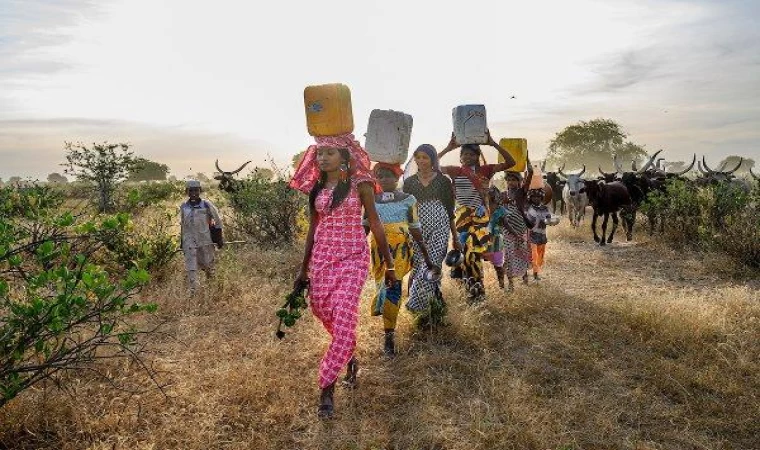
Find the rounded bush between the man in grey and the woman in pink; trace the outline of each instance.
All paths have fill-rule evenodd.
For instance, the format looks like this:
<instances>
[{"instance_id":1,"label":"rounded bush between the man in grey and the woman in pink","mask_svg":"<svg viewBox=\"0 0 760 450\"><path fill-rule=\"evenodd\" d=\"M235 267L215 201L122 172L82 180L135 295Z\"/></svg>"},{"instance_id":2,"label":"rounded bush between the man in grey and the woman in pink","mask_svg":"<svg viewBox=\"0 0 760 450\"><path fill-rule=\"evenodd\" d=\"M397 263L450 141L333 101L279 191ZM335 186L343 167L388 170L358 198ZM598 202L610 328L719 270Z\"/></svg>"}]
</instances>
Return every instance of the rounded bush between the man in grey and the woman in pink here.
<instances>
[{"instance_id":1,"label":"rounded bush between the man in grey and the woman in pink","mask_svg":"<svg viewBox=\"0 0 760 450\"><path fill-rule=\"evenodd\" d=\"M265 247L293 243L303 231L306 199L291 189L286 174L274 171L274 179L254 171L227 194L232 207L233 228Z\"/></svg>"}]
</instances>

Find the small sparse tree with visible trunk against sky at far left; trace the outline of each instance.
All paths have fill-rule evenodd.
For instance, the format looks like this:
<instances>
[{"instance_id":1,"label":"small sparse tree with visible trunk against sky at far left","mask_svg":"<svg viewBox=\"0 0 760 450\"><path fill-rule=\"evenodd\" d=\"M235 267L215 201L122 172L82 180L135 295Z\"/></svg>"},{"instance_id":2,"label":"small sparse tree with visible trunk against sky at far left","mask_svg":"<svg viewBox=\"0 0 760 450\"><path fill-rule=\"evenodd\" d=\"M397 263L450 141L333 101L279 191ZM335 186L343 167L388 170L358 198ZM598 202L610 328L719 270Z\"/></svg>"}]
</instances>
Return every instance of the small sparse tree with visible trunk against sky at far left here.
<instances>
[{"instance_id":1,"label":"small sparse tree with visible trunk against sky at far left","mask_svg":"<svg viewBox=\"0 0 760 450\"><path fill-rule=\"evenodd\" d=\"M113 210L113 194L135 165L134 153L129 144L92 144L66 142L65 173L79 181L91 183L97 191L97 208L100 212Z\"/></svg>"}]
</instances>

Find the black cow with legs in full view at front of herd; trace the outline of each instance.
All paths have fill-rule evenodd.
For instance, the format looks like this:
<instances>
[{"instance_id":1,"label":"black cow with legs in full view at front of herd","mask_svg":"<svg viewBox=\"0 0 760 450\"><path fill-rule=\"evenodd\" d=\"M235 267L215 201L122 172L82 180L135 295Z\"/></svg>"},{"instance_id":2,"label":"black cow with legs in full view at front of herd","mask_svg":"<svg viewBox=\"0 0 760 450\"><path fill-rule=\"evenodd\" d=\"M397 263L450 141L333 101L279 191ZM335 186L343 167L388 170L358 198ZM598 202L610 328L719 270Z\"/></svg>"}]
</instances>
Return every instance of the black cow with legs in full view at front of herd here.
<instances>
[{"instance_id":1,"label":"black cow with legs in full view at front of herd","mask_svg":"<svg viewBox=\"0 0 760 450\"><path fill-rule=\"evenodd\" d=\"M618 226L618 211L623 211L624 227L626 228L626 239L633 239L633 222L631 221L633 210L633 201L631 200L628 189L619 181L606 183L600 180L586 181L586 194L591 207L594 209L594 218L591 220L591 230L594 232L594 241L599 245L606 245L612 242L615 236L615 230ZM612 230L610 236L605 240L607 234L607 222L612 214ZM596 233L596 219L604 215L602 222L601 238ZM625 223L627 222L627 223Z\"/></svg>"}]
</instances>

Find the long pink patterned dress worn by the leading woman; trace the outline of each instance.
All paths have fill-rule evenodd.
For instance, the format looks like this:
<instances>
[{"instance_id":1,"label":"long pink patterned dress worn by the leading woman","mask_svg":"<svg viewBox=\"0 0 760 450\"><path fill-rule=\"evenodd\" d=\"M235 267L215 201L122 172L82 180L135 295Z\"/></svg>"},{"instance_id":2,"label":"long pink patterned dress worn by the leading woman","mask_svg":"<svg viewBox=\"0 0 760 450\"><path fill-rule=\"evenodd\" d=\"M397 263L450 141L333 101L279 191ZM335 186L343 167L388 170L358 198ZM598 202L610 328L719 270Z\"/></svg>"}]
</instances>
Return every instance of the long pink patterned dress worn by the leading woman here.
<instances>
[{"instance_id":1,"label":"long pink patterned dress worn by the leading woman","mask_svg":"<svg viewBox=\"0 0 760 450\"><path fill-rule=\"evenodd\" d=\"M311 310L332 336L319 366L319 387L335 382L356 347L359 302L369 269L369 246L362 226L362 203L352 180L346 198L330 209L332 189L322 189L309 261Z\"/></svg>"}]
</instances>

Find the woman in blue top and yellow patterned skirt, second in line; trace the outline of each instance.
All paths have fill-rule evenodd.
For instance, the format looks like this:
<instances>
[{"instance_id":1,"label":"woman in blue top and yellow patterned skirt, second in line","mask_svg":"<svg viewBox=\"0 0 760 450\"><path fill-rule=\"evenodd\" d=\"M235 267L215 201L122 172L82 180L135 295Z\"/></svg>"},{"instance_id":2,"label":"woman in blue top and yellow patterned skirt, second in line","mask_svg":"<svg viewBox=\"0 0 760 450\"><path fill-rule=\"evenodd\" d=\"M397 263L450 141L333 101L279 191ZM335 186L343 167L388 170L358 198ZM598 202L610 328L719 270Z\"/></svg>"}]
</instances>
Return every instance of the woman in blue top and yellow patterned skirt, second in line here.
<instances>
[{"instance_id":1,"label":"woman in blue top and yellow patterned skirt, second in line","mask_svg":"<svg viewBox=\"0 0 760 450\"><path fill-rule=\"evenodd\" d=\"M385 331L385 345L383 351L386 356L396 355L394 334L396 320L401 303L401 280L412 268L412 255L414 252L413 242L421 253L422 259L428 270L437 270L430 261L425 243L422 240L420 221L417 216L417 199L413 195L399 191L398 179L403 174L398 164L377 163L373 170L383 192L375 195L375 207L380 217L380 222L385 230L388 241L396 280L386 286L385 284L385 256L380 252L378 240L373 237L370 244L370 259L372 261L372 275L375 278L377 294L372 302L372 315L383 316L383 330ZM369 232L368 223L365 230Z\"/></svg>"}]
</instances>

